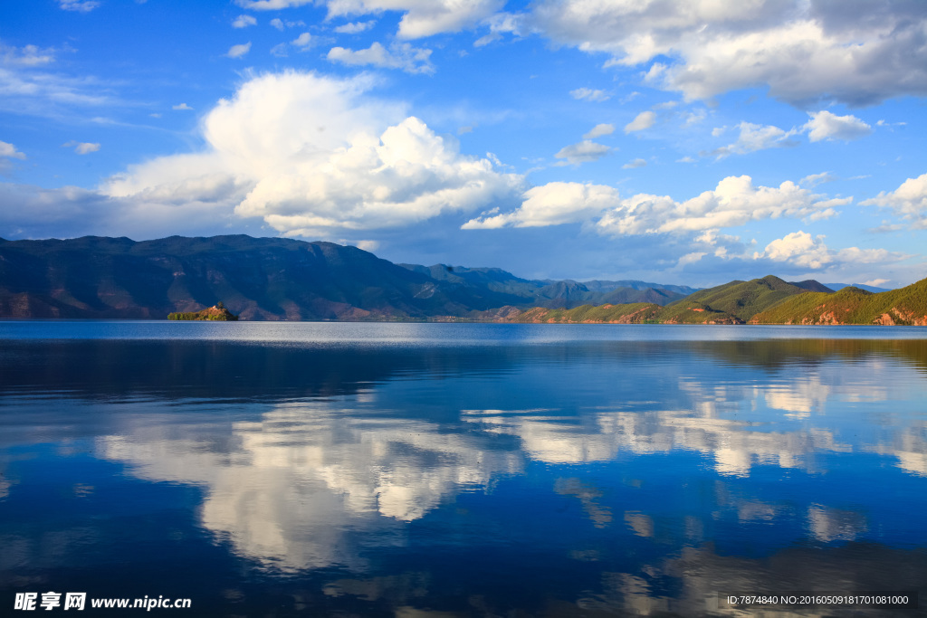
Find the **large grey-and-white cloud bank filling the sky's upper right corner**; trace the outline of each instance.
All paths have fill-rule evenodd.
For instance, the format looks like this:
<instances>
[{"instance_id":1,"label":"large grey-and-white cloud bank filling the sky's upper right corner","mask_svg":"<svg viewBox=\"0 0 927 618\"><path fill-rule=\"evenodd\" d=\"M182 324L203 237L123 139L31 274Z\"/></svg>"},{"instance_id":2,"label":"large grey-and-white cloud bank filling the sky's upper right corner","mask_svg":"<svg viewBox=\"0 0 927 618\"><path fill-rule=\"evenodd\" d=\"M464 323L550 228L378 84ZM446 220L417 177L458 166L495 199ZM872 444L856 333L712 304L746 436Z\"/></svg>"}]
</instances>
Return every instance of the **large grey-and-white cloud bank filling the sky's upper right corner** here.
<instances>
[{"instance_id":1,"label":"large grey-and-white cloud bank filling the sky's upper right corner","mask_svg":"<svg viewBox=\"0 0 927 618\"><path fill-rule=\"evenodd\" d=\"M925 18L923 3L891 0L540 0L531 14L536 31L606 65L653 63L648 81L687 100L766 86L796 106L927 94Z\"/></svg>"}]
</instances>

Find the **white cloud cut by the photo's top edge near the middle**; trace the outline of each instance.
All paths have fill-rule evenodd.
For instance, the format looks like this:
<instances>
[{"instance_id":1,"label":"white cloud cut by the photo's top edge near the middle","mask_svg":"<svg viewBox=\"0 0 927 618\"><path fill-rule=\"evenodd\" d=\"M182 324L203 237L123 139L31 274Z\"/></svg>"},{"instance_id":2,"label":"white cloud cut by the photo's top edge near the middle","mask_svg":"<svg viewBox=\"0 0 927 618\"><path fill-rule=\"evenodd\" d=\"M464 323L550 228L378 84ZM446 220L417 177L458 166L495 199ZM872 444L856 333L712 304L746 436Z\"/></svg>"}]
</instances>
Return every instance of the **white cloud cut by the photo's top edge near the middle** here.
<instances>
[{"instance_id":1,"label":"white cloud cut by the photo's top edge near the middle","mask_svg":"<svg viewBox=\"0 0 927 618\"><path fill-rule=\"evenodd\" d=\"M472 28L502 9L504 0L327 0L328 17L403 11L397 36L419 39Z\"/></svg>"}]
</instances>

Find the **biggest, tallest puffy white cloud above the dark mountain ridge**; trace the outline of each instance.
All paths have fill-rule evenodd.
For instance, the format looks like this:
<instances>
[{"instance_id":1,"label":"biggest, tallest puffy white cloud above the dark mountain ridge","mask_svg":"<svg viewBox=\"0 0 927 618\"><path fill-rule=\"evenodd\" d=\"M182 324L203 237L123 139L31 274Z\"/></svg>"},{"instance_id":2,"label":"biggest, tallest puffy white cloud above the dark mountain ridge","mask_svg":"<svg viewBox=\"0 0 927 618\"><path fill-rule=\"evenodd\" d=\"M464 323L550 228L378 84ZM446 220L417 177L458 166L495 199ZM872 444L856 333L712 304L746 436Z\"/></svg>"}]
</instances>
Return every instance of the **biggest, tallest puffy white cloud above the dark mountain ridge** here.
<instances>
[{"instance_id":1,"label":"biggest, tallest puffy white cloud above the dark mountain ridge","mask_svg":"<svg viewBox=\"0 0 927 618\"><path fill-rule=\"evenodd\" d=\"M465 157L422 120L369 97L371 78L255 77L203 120L203 152L131 166L114 198L203 203L279 233L339 237L514 201L522 178Z\"/></svg>"}]
</instances>

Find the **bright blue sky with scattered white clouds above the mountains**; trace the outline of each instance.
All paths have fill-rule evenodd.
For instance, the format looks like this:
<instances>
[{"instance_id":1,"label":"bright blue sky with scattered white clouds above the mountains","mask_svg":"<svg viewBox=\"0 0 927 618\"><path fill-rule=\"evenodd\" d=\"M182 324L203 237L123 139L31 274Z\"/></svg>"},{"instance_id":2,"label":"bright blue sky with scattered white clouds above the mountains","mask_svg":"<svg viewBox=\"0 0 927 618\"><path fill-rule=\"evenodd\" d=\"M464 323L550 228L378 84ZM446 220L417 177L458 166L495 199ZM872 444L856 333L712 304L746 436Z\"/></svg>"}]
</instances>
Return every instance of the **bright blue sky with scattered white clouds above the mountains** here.
<instances>
[{"instance_id":1,"label":"bright blue sky with scattered white clouds above the mountains","mask_svg":"<svg viewBox=\"0 0 927 618\"><path fill-rule=\"evenodd\" d=\"M524 277L927 276L921 0L0 6L0 236Z\"/></svg>"}]
</instances>

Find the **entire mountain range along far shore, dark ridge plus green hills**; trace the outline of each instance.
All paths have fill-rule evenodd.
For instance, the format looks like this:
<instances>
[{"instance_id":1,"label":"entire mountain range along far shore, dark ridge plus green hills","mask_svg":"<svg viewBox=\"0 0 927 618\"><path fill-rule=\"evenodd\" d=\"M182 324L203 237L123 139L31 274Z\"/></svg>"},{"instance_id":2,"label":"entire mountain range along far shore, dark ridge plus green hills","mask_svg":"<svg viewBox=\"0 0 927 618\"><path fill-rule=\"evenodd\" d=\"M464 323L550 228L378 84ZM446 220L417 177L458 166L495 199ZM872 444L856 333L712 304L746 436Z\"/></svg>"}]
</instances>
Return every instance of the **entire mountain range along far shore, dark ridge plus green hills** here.
<instances>
[{"instance_id":1,"label":"entire mountain range along far shore, dark ridge plus green hills","mask_svg":"<svg viewBox=\"0 0 927 618\"><path fill-rule=\"evenodd\" d=\"M913 296L904 290L849 286L835 293L817 281L771 275L701 290L523 279L495 268L394 264L354 246L246 235L0 239L0 318L164 319L222 302L242 320L918 323L920 288ZM840 299L843 313L815 313L826 298Z\"/></svg>"}]
</instances>

